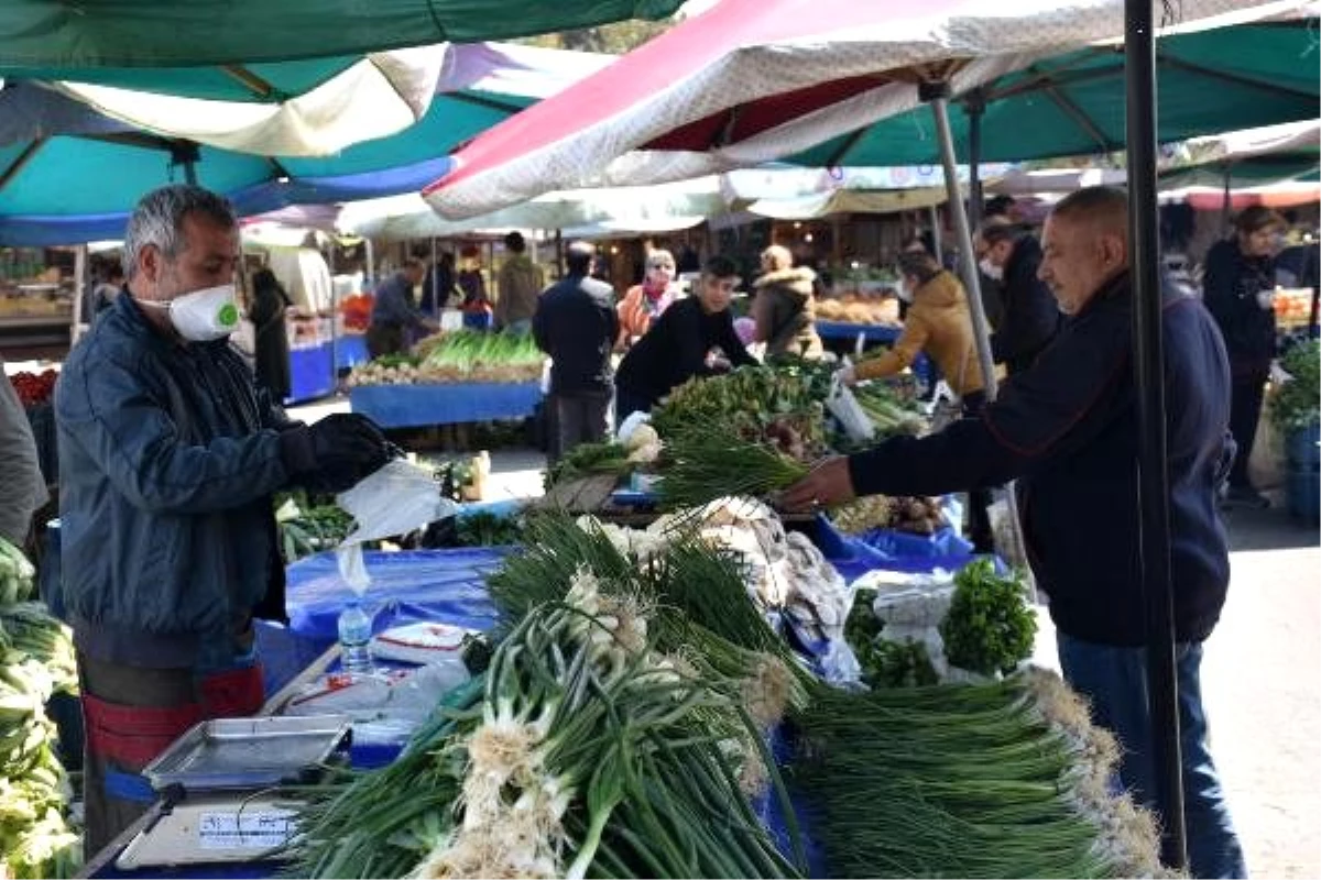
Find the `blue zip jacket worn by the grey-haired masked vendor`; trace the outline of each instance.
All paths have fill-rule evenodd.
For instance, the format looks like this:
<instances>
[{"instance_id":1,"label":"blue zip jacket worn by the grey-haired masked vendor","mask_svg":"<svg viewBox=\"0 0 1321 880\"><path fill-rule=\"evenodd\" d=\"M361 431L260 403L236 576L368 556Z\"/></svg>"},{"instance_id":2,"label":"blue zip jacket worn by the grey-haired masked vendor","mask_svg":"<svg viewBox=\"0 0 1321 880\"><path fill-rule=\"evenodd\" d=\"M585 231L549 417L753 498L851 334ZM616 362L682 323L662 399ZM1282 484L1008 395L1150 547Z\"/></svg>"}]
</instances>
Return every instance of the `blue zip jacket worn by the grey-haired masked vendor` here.
<instances>
[{"instance_id":1,"label":"blue zip jacket worn by the grey-haired masked vendor","mask_svg":"<svg viewBox=\"0 0 1321 880\"><path fill-rule=\"evenodd\" d=\"M180 344L120 296L55 387L61 599L78 648L217 669L268 590L283 613L271 493L280 430L227 340ZM271 615L266 615L271 616Z\"/></svg>"}]
</instances>

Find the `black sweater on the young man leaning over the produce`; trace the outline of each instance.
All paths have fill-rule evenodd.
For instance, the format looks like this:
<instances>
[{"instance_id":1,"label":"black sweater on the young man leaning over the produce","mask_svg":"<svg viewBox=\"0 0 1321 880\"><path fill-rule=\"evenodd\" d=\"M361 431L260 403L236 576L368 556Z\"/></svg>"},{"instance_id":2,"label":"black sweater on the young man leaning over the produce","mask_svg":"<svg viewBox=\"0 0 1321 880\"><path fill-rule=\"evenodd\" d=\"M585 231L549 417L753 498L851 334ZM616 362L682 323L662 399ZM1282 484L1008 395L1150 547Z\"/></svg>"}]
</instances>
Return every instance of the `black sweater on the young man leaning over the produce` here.
<instances>
[{"instance_id":1,"label":"black sweater on the young man leaning over the produce","mask_svg":"<svg viewBox=\"0 0 1321 880\"><path fill-rule=\"evenodd\" d=\"M734 367L757 361L734 332L729 310L707 314L697 297L674 303L624 356L614 384L655 405L694 376L709 376L707 352L720 348Z\"/></svg>"}]
</instances>

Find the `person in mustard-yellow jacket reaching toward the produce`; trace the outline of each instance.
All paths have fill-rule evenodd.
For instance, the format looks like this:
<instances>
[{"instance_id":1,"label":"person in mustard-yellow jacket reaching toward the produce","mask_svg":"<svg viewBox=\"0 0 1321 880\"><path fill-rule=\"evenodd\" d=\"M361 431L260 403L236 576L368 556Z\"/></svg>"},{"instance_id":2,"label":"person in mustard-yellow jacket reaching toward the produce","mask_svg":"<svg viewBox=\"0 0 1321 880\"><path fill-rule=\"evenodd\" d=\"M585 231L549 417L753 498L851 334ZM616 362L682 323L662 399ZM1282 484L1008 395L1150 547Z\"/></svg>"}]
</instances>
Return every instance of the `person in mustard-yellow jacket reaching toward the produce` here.
<instances>
[{"instance_id":1,"label":"person in mustard-yellow jacket reaching toward the produce","mask_svg":"<svg viewBox=\"0 0 1321 880\"><path fill-rule=\"evenodd\" d=\"M844 381L893 376L926 352L963 401L964 412L975 412L985 400L985 384L963 285L925 251L901 253L898 270L900 298L911 303L904 318L904 332L885 354L845 368Z\"/></svg>"}]
</instances>

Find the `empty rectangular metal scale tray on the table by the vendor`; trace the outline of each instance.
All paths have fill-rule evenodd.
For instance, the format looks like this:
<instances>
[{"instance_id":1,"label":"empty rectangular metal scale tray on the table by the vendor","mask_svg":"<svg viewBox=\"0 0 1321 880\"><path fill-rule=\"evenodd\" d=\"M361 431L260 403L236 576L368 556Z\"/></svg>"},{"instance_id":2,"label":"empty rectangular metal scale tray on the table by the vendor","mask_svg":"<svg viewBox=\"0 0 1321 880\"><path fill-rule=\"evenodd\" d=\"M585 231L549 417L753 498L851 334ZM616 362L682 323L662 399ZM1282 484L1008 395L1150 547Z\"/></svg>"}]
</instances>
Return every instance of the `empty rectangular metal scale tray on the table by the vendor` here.
<instances>
[{"instance_id":1,"label":"empty rectangular metal scale tray on the table by the vendor","mask_svg":"<svg viewBox=\"0 0 1321 880\"><path fill-rule=\"evenodd\" d=\"M194 726L143 769L156 790L251 789L297 780L349 732L345 715L222 718Z\"/></svg>"}]
</instances>

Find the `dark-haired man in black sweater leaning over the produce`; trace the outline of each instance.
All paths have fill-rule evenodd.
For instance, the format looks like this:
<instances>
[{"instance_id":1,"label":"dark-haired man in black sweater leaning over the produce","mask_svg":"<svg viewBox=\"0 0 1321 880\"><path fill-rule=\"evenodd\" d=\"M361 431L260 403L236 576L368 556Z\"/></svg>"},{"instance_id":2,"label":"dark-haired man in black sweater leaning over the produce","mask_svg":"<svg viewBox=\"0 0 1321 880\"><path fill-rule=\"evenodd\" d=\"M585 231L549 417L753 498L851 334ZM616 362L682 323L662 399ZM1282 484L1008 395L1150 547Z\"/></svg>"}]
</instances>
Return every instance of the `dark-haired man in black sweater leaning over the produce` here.
<instances>
[{"instance_id":1,"label":"dark-haired man in black sweater leaning over the produce","mask_svg":"<svg viewBox=\"0 0 1321 880\"><path fill-rule=\"evenodd\" d=\"M729 299L738 286L738 267L725 256L707 261L701 288L670 306L620 363L614 384L616 413L650 412L670 391L694 376L712 376L757 361L734 332Z\"/></svg>"}]
</instances>

